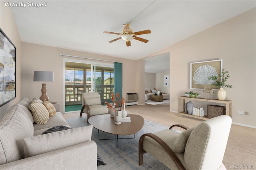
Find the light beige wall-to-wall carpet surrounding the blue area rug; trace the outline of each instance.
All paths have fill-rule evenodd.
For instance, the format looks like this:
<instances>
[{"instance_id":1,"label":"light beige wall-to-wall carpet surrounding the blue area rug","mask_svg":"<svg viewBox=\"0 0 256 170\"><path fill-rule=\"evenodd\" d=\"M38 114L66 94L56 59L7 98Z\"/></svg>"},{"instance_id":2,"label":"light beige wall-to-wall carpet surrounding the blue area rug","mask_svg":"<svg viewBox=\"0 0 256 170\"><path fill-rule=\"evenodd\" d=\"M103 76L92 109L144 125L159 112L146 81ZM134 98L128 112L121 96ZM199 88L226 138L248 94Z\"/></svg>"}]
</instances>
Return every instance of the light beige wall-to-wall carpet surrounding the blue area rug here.
<instances>
[{"instance_id":1,"label":"light beige wall-to-wall carpet surrounding the blue area rug","mask_svg":"<svg viewBox=\"0 0 256 170\"><path fill-rule=\"evenodd\" d=\"M187 127L195 127L203 120L179 116L170 112L169 104L161 105L131 105L126 107L128 114L141 115L144 119L170 127L174 124L182 124ZM255 114L255 113L254 113ZM63 114L65 119L79 117L80 112ZM86 114L83 113L83 117ZM228 144L224 154L223 163L228 170L237 166L254 166L256 168L256 129L232 125L228 137ZM231 167L233 166L233 168Z\"/></svg>"}]
</instances>

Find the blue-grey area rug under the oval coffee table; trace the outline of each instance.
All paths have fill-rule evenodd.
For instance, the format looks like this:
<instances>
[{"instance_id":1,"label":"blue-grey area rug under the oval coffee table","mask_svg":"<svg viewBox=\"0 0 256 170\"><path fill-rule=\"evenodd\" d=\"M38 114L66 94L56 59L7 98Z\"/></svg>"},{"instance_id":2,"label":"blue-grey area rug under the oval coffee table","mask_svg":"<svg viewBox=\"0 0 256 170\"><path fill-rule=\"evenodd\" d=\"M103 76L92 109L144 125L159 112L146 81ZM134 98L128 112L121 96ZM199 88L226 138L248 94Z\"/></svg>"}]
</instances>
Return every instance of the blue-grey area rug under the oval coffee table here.
<instances>
[{"instance_id":1,"label":"blue-grey area rug under the oval coffee table","mask_svg":"<svg viewBox=\"0 0 256 170\"><path fill-rule=\"evenodd\" d=\"M71 128L88 126L87 117L77 117L66 119ZM138 164L138 143L140 136L145 133L154 133L163 129L167 129L164 125L145 120L143 128L135 134L135 138L118 140L118 148L116 140L99 140L98 130L93 128L92 140L97 144L97 152L102 162L106 165L98 166L98 170L169 170L164 164L156 160L150 154L144 154L144 164ZM118 136L118 138L134 137ZM108 134L100 131L100 138L116 138L116 135Z\"/></svg>"}]
</instances>

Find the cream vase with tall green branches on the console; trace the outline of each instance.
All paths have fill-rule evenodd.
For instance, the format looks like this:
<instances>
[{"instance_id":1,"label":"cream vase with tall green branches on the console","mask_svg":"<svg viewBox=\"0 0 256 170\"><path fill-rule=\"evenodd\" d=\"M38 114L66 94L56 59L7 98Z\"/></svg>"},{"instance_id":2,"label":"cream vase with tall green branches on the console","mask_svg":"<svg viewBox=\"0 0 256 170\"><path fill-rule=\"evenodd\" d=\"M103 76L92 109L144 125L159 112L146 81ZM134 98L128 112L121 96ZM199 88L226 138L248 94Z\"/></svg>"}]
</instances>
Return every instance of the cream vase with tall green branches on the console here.
<instances>
[{"instance_id":1,"label":"cream vase with tall green branches on the console","mask_svg":"<svg viewBox=\"0 0 256 170\"><path fill-rule=\"evenodd\" d=\"M223 89L223 87L228 87L228 88L233 87L232 85L229 85L229 84L226 85L226 81L229 78L230 78L230 76L229 76L228 71L224 71L224 69L222 69L221 73L218 75L208 76L209 80L214 81L211 84L220 88L217 95L218 95L218 99L221 101L224 101L226 98L226 91Z\"/></svg>"}]
</instances>

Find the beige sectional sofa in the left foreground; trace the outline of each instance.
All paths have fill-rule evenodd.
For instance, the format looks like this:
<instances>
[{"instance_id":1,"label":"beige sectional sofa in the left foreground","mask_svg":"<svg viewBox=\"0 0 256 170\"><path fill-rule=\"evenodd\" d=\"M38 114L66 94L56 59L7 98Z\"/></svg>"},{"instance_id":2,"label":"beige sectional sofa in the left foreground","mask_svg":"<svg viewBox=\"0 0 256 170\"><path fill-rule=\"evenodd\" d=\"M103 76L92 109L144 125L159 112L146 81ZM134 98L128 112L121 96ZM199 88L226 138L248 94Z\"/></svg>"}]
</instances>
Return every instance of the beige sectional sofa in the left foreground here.
<instances>
[{"instance_id":1,"label":"beige sectional sofa in the left foreground","mask_svg":"<svg viewBox=\"0 0 256 170\"><path fill-rule=\"evenodd\" d=\"M0 169L97 169L97 145L91 140L92 126L42 134L68 123L54 104L56 115L45 125L34 123L22 98L0 122Z\"/></svg>"}]
</instances>

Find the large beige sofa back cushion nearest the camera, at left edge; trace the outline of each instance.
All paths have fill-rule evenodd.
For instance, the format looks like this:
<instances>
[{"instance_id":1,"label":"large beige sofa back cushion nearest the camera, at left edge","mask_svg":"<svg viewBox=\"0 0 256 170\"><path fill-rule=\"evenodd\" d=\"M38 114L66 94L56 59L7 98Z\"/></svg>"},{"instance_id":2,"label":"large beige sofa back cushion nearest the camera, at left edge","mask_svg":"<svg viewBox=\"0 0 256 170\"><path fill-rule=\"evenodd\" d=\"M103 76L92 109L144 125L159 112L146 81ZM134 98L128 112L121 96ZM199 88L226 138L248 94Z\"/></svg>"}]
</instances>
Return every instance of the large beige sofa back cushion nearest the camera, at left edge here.
<instances>
[{"instance_id":1,"label":"large beige sofa back cushion nearest the camera, at left edge","mask_svg":"<svg viewBox=\"0 0 256 170\"><path fill-rule=\"evenodd\" d=\"M0 164L23 159L23 139L33 134L33 125L22 106L12 106L0 122Z\"/></svg>"}]
</instances>

